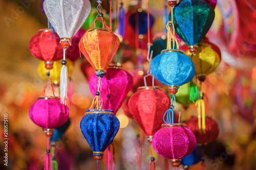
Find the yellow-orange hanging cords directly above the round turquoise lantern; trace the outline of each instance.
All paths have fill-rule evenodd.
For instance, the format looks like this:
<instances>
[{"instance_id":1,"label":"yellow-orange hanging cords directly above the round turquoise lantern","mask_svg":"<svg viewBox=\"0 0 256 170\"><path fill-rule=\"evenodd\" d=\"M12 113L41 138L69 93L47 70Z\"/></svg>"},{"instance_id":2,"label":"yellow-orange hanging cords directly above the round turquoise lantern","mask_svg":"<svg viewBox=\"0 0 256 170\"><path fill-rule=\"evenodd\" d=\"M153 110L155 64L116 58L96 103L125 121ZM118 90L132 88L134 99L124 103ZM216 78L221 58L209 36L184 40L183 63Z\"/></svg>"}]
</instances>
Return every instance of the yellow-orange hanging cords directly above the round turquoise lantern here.
<instances>
[{"instance_id":1,"label":"yellow-orange hanging cords directly above the round turquoise lantern","mask_svg":"<svg viewBox=\"0 0 256 170\"><path fill-rule=\"evenodd\" d=\"M167 50L170 49L175 49L175 44L176 44L176 49L179 50L179 39L177 39L175 37L175 27L174 27L174 23L173 23L173 10L174 7L170 7L170 12L172 14L172 21L169 21L166 25L166 29L167 29ZM172 47L172 41L174 41L173 43L173 47Z\"/></svg>"}]
</instances>

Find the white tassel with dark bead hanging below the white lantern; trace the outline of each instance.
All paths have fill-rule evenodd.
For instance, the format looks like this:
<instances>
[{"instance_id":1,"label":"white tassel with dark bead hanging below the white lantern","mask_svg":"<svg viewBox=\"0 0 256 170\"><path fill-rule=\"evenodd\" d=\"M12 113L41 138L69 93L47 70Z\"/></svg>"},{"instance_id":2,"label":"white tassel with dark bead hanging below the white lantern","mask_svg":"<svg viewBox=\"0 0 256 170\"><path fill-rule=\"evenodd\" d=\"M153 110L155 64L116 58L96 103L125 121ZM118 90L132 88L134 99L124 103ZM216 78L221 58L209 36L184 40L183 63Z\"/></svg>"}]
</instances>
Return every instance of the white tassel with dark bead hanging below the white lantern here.
<instances>
[{"instance_id":1,"label":"white tassel with dark bead hanging below the white lantern","mask_svg":"<svg viewBox=\"0 0 256 170\"><path fill-rule=\"evenodd\" d=\"M67 80L68 80L68 68L66 66L66 50L67 47L63 47L63 60L62 60L62 67L60 72L60 100L62 104L66 105L67 99Z\"/></svg>"}]
</instances>

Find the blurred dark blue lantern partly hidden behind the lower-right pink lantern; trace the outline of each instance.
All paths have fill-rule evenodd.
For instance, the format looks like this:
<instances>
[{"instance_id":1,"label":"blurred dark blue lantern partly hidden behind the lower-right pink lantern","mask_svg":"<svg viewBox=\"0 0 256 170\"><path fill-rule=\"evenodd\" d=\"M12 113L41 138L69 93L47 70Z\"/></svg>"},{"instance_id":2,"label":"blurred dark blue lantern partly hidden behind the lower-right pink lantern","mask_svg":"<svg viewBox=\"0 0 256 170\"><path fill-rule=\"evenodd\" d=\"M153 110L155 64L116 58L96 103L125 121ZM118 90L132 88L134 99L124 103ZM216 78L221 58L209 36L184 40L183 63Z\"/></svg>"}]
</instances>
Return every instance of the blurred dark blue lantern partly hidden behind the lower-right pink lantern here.
<instances>
[{"instance_id":1,"label":"blurred dark blue lantern partly hidden behind the lower-right pink lantern","mask_svg":"<svg viewBox=\"0 0 256 170\"><path fill-rule=\"evenodd\" d=\"M191 166L202 160L202 148L198 145L195 150L188 156L181 159L181 164Z\"/></svg>"}]
</instances>

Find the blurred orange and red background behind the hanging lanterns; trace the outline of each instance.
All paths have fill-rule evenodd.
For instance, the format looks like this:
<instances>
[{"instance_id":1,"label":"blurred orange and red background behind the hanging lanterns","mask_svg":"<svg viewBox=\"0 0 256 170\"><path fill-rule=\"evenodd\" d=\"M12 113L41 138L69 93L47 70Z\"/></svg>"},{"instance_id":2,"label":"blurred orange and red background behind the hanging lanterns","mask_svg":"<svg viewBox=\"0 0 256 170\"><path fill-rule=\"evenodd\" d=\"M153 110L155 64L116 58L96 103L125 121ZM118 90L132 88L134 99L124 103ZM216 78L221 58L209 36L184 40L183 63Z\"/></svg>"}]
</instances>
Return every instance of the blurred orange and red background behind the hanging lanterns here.
<instances>
[{"instance_id":1,"label":"blurred orange and red background behind the hanging lanterns","mask_svg":"<svg viewBox=\"0 0 256 170\"><path fill-rule=\"evenodd\" d=\"M138 1L123 0L126 13L137 10ZM96 7L95 1L91 1ZM142 0L140 8L146 10L147 1ZM150 13L154 17L151 28L152 42L165 39L164 1L150 0ZM0 133L3 136L4 114L8 114L8 167L3 165L4 143L0 139L1 169L43 169L47 138L40 127L30 119L30 106L40 95L46 80L38 72L39 60L29 51L30 39L39 29L47 28L47 17L41 11L40 0L0 0ZM102 3L109 14L109 1ZM120 1L112 1L112 21L115 30L117 10ZM168 11L170 9L168 8ZM207 169L256 169L256 3L253 0L218 0L216 17L207 36L221 50L222 60L216 71L207 76L203 91L207 96L207 115L214 118L220 128L218 142L206 145L205 166ZM106 16L108 19L108 16ZM129 24L129 23L126 23ZM84 28L86 29L86 28ZM88 29L88 28L87 28ZM131 28L130 28L131 29ZM129 28L126 29L129 31ZM135 34L126 34L113 64L121 64L134 77L134 89L143 85L148 63L146 47L138 56L133 40ZM147 43L146 34L141 41ZM145 43L145 45L146 45ZM182 44L182 42L181 42ZM183 42L184 44L184 42ZM138 49L137 49L138 50ZM143 57L144 56L144 57ZM93 95L88 81L93 74L86 59L77 57L72 61L74 69L70 76L74 83L71 96L71 125L57 143L56 160L59 169L96 169L92 151L80 132L80 120L91 105ZM139 64L138 64L139 63ZM142 71L142 72L141 72ZM57 84L57 83L56 83ZM133 91L129 93L131 96ZM197 115L195 104L183 106L181 121ZM116 169L139 169L138 143L144 136L133 120L127 100L117 112L120 130L115 144ZM141 169L148 168L150 144L142 142ZM208 149L207 149L208 147ZM211 151L218 148L218 153ZM224 148L223 148L224 147ZM208 151L208 152L207 152ZM211 162L215 157L228 153L227 158ZM164 158L154 153L156 169L172 169L166 166ZM105 159L100 163L102 169ZM189 169L199 169L202 162ZM211 164L211 165L210 165ZM209 166L210 165L210 166ZM181 166L178 169L183 169ZM201 166L202 168L202 166ZM205 168L205 167L204 167Z\"/></svg>"}]
</instances>

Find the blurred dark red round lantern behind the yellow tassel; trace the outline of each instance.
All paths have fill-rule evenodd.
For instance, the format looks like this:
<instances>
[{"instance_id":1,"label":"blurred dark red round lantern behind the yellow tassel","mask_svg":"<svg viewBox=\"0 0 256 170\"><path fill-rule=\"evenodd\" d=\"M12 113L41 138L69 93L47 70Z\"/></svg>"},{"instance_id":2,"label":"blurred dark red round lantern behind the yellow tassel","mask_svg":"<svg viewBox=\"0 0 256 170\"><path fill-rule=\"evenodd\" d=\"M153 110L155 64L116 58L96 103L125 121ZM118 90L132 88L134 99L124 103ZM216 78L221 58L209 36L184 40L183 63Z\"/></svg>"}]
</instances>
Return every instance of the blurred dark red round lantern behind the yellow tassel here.
<instances>
[{"instance_id":1,"label":"blurred dark red round lantern behind the yellow tassel","mask_svg":"<svg viewBox=\"0 0 256 170\"><path fill-rule=\"evenodd\" d=\"M201 128L199 128L198 120L198 117L191 117L187 122L187 128L195 134L197 142L203 144L214 141L219 135L219 126L217 122L210 117L205 117L205 128L203 128L204 125L202 123L201 130Z\"/></svg>"}]
</instances>

